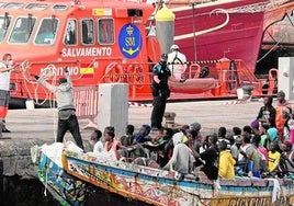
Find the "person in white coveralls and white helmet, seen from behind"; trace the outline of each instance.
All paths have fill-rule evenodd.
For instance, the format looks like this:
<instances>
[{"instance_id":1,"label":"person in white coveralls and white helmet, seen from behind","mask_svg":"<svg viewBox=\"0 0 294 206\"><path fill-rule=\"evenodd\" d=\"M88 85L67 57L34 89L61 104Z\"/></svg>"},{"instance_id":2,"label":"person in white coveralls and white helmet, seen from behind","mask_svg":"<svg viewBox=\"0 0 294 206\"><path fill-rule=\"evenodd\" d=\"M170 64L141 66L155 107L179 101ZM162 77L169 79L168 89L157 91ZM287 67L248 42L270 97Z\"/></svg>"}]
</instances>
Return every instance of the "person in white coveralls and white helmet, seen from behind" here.
<instances>
[{"instance_id":1,"label":"person in white coveralls and white helmet, seen from behind","mask_svg":"<svg viewBox=\"0 0 294 206\"><path fill-rule=\"evenodd\" d=\"M170 47L170 54L168 54L168 64L170 64L171 76L176 79L181 79L182 73L186 69L186 57L184 54L180 53L178 45L172 45Z\"/></svg>"}]
</instances>

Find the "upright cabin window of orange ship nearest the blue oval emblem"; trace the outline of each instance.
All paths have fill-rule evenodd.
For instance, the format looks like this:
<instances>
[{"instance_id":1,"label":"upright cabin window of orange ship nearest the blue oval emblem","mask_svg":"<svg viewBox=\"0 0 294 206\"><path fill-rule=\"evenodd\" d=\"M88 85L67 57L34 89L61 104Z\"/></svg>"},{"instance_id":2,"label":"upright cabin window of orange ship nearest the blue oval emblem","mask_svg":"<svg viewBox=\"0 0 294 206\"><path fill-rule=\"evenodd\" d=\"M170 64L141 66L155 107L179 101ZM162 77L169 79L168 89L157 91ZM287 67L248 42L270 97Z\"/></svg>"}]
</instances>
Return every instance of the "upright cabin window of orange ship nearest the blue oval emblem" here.
<instances>
[{"instance_id":1,"label":"upright cabin window of orange ship nearest the blue oval emblem","mask_svg":"<svg viewBox=\"0 0 294 206\"><path fill-rule=\"evenodd\" d=\"M114 22L113 19L98 20L98 43L101 45L114 44Z\"/></svg>"}]
</instances>

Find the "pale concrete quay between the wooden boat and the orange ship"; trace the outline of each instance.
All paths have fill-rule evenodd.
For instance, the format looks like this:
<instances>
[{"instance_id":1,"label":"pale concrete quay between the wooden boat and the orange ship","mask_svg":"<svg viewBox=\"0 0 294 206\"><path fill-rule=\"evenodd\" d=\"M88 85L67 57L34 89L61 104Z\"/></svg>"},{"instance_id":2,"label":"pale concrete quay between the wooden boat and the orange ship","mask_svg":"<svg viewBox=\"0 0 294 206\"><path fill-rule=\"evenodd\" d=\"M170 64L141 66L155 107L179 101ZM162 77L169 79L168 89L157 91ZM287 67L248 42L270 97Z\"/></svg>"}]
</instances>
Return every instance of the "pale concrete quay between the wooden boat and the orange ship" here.
<instances>
[{"instance_id":1,"label":"pale concrete quay between the wooden boat and the orange ship","mask_svg":"<svg viewBox=\"0 0 294 206\"><path fill-rule=\"evenodd\" d=\"M234 126L244 127L250 124L257 116L262 101L199 101L168 103L166 112L174 112L174 122L179 125L197 122L202 125L203 133L216 131L225 126L231 129ZM149 124L151 105L129 106L128 124L139 128L143 124ZM99 115L98 115L99 116ZM84 127L89 121L79 119L80 127ZM3 134L10 139L0 139L0 153L3 162L3 175L35 175L32 165L30 148L34 145L54 142L56 133L56 108L10 110L7 117L7 127L12 131ZM103 128L100 128L103 130ZM89 136L93 128L81 129L86 150L90 150ZM120 137L121 134L116 134ZM69 133L66 140L74 138Z\"/></svg>"}]
</instances>

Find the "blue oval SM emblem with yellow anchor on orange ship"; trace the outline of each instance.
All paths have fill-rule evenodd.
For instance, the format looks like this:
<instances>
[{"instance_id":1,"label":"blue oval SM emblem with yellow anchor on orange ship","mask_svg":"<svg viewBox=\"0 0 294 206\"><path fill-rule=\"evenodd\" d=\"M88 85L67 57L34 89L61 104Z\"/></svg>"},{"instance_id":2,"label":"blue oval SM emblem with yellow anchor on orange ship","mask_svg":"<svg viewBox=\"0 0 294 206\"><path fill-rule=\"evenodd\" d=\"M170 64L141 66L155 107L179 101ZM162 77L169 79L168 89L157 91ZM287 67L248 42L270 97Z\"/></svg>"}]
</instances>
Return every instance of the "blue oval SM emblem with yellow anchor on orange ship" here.
<instances>
[{"instance_id":1,"label":"blue oval SM emblem with yellow anchor on orange ship","mask_svg":"<svg viewBox=\"0 0 294 206\"><path fill-rule=\"evenodd\" d=\"M142 35L139 28L134 24L122 27L118 36L121 53L128 59L138 56L142 48Z\"/></svg>"}]
</instances>

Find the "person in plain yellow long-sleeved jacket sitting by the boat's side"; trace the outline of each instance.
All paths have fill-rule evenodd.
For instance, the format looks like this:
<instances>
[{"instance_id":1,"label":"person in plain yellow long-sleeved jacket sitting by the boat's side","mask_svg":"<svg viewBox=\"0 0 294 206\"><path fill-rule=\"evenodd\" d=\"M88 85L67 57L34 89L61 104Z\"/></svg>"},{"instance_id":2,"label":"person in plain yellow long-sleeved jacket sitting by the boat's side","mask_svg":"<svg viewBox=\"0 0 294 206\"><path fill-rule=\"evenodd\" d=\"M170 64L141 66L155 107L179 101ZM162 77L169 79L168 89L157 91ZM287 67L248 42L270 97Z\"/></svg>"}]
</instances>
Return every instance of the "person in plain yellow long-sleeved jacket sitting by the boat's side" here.
<instances>
[{"instance_id":1,"label":"person in plain yellow long-sleeved jacket sitting by the boat's side","mask_svg":"<svg viewBox=\"0 0 294 206\"><path fill-rule=\"evenodd\" d=\"M227 150L227 144L225 140L219 141L219 163L218 163L218 175L223 179L235 179L236 160L233 158L229 150Z\"/></svg>"}]
</instances>

